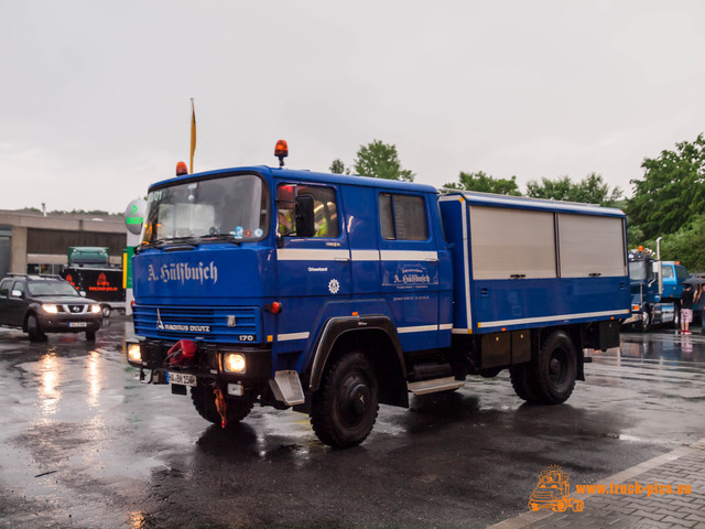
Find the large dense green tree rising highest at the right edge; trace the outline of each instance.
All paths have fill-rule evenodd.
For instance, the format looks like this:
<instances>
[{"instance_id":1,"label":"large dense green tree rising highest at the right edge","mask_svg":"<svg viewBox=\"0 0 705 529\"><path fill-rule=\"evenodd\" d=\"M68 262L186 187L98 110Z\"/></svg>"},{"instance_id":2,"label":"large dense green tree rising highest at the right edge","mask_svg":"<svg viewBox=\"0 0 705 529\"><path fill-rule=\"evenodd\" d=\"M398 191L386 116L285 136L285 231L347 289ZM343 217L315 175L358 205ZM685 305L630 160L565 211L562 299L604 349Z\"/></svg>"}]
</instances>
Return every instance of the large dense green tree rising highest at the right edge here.
<instances>
[{"instance_id":1,"label":"large dense green tree rising highest at the right edge","mask_svg":"<svg viewBox=\"0 0 705 529\"><path fill-rule=\"evenodd\" d=\"M629 219L647 239L673 234L705 206L705 138L675 144L655 159L644 159L643 179L632 180Z\"/></svg>"}]
</instances>

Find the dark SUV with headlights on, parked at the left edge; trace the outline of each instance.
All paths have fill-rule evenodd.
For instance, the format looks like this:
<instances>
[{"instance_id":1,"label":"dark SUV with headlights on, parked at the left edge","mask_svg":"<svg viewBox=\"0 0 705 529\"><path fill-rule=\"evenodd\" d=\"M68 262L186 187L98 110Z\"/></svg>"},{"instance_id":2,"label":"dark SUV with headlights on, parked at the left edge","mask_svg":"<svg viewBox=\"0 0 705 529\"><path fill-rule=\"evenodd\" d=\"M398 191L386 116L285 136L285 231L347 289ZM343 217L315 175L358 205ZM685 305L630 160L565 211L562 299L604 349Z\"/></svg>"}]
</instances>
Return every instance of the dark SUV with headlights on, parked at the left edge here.
<instances>
[{"instance_id":1,"label":"dark SUV with headlights on, parked at the left edge","mask_svg":"<svg viewBox=\"0 0 705 529\"><path fill-rule=\"evenodd\" d=\"M86 333L94 341L101 324L100 304L58 276L9 274L0 282L0 325L22 328L32 342L44 333Z\"/></svg>"}]
</instances>

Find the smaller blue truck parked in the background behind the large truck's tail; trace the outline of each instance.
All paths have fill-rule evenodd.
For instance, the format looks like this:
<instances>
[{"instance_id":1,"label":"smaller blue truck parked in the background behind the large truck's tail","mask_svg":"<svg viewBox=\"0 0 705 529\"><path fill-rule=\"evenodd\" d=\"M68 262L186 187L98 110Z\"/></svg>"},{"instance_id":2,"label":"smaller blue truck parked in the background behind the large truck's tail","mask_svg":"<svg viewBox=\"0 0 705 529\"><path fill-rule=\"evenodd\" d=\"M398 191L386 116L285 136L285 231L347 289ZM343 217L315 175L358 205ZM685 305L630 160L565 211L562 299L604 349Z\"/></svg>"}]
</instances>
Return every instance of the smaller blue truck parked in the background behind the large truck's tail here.
<instances>
[{"instance_id":1,"label":"smaller blue truck parked in the background behind the large truck's tail","mask_svg":"<svg viewBox=\"0 0 705 529\"><path fill-rule=\"evenodd\" d=\"M652 325L681 324L681 294L687 269L677 261L661 261L643 248L629 251L631 316L623 324L633 324L647 332Z\"/></svg>"}]
</instances>

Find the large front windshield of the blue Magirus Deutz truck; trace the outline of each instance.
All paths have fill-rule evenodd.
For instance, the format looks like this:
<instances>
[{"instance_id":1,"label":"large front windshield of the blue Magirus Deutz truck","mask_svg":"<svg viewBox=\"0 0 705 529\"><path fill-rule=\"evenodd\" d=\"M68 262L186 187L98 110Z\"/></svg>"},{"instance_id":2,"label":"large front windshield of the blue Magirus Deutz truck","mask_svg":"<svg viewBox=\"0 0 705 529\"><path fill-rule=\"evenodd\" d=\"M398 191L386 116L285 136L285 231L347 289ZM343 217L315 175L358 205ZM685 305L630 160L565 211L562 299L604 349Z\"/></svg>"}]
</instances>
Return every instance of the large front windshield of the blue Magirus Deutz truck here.
<instances>
[{"instance_id":1,"label":"large front windshield of the blue Magirus Deutz truck","mask_svg":"<svg viewBox=\"0 0 705 529\"><path fill-rule=\"evenodd\" d=\"M142 242L258 240L267 233L267 187L253 174L175 184L152 191L147 202Z\"/></svg>"}]
</instances>

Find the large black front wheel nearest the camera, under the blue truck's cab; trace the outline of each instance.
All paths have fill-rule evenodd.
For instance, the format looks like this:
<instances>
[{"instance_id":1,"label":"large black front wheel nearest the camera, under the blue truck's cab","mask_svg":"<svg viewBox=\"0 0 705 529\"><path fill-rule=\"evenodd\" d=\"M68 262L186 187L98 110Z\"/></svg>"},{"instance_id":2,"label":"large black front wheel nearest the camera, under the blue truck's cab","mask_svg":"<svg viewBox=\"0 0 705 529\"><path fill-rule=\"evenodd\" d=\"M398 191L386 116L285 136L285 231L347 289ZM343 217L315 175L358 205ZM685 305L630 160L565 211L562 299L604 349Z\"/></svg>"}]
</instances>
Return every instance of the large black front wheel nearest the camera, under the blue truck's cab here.
<instances>
[{"instance_id":1,"label":"large black front wheel nearest the camera, under the blue truck's cab","mask_svg":"<svg viewBox=\"0 0 705 529\"><path fill-rule=\"evenodd\" d=\"M323 443L347 449L365 441L379 411L377 378L367 357L355 352L338 358L326 369L312 404L311 424Z\"/></svg>"}]
</instances>

